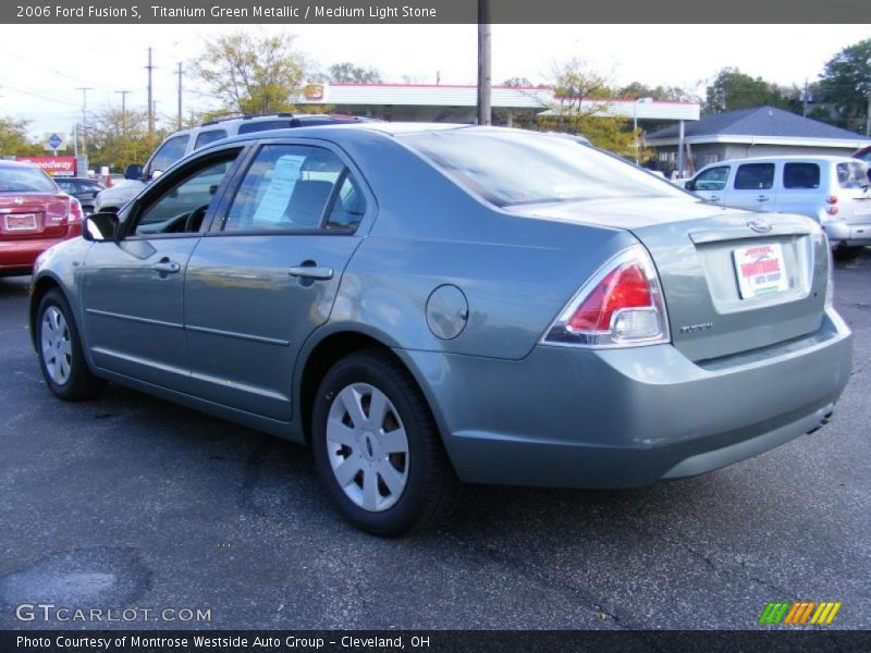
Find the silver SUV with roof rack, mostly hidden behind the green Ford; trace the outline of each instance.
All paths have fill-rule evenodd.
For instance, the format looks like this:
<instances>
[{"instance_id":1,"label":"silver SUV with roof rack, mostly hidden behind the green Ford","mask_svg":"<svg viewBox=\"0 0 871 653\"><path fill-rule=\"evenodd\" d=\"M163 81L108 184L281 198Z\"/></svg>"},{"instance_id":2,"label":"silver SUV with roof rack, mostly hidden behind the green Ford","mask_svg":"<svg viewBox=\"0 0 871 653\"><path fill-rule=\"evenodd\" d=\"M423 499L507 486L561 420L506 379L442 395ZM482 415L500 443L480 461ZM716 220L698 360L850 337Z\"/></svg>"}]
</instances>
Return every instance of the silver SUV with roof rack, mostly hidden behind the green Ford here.
<instances>
[{"instance_id":1,"label":"silver SUV with roof rack, mostly hidden behind the green Ford","mask_svg":"<svg viewBox=\"0 0 871 653\"><path fill-rule=\"evenodd\" d=\"M205 122L198 127L171 134L155 150L145 168L142 165L128 165L127 170L124 171L124 178L128 183L113 185L111 188L101 190L96 198L95 210L118 211L175 161L222 138L268 130L290 130L368 121L372 121L372 119L340 114L275 113L272 115L233 116Z\"/></svg>"}]
</instances>

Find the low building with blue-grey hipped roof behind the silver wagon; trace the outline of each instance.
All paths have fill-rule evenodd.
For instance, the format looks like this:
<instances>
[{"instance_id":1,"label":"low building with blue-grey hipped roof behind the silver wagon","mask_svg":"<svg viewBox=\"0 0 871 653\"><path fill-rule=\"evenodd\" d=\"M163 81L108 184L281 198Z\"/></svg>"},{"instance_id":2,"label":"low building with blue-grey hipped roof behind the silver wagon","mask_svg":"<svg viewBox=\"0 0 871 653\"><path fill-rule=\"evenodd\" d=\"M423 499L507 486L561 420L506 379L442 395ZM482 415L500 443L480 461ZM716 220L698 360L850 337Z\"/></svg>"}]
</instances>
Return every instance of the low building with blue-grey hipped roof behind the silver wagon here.
<instances>
[{"instance_id":1,"label":"low building with blue-grey hipped roof behind the silver wagon","mask_svg":"<svg viewBox=\"0 0 871 653\"><path fill-rule=\"evenodd\" d=\"M682 134L683 132L683 134ZM679 143L685 144L688 172L717 161L749 157L835 155L849 157L871 145L854 132L803 118L775 107L753 107L703 116L698 122L671 125L645 136L657 152L657 168L677 167Z\"/></svg>"}]
</instances>

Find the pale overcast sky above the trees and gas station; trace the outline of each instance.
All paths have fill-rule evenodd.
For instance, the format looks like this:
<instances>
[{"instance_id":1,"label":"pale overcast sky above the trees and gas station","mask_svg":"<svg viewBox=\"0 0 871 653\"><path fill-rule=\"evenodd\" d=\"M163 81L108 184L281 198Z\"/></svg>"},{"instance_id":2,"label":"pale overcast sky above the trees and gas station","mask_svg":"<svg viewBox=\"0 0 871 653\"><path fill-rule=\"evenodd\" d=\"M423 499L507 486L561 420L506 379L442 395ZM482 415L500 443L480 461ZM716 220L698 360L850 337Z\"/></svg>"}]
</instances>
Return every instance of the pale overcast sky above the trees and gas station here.
<instances>
[{"instance_id":1,"label":"pale overcast sky above the trees and gas station","mask_svg":"<svg viewBox=\"0 0 871 653\"><path fill-rule=\"evenodd\" d=\"M703 94L704 83L727 65L783 85L802 85L842 48L871 34L869 25L494 25L493 82L520 76L550 82L556 62L588 62L614 84L639 81L683 86ZM154 47L159 114L175 114L175 66L203 50L210 35L253 26L222 25L0 25L0 115L32 121L30 132L69 132L88 107L146 106L146 49ZM475 25L287 25L297 45L327 67L352 61L381 71L384 82L474 84ZM205 108L191 91L184 102Z\"/></svg>"}]
</instances>

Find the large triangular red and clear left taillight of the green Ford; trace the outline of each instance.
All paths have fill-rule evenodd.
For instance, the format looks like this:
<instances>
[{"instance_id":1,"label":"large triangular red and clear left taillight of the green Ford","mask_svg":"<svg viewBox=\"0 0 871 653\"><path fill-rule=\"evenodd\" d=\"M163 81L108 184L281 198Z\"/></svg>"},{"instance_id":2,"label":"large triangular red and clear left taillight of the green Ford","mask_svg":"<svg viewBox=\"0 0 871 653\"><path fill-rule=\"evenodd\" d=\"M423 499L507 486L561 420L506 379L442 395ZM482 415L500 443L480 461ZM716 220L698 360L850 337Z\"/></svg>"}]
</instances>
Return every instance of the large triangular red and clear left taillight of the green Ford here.
<instances>
[{"instance_id":1,"label":"large triangular red and clear left taillight of the green Ford","mask_svg":"<svg viewBox=\"0 0 871 653\"><path fill-rule=\"evenodd\" d=\"M657 270L635 245L584 284L542 342L587 347L667 343L668 320Z\"/></svg>"}]
</instances>

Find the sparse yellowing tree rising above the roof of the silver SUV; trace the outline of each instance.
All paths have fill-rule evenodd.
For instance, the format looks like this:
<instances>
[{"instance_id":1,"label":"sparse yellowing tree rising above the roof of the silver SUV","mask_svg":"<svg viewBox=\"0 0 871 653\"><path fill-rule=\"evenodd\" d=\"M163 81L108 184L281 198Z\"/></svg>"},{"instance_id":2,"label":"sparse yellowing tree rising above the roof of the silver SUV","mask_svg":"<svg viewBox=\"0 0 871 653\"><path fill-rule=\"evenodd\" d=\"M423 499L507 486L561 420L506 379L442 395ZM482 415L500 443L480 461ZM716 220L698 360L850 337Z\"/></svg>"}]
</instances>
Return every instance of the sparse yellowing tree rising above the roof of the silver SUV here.
<instances>
[{"instance_id":1,"label":"sparse yellowing tree rising above the roof of the silver SUV","mask_svg":"<svg viewBox=\"0 0 871 653\"><path fill-rule=\"evenodd\" d=\"M295 37L235 32L206 41L194 73L223 109L275 113L294 109L310 64L294 49Z\"/></svg>"}]
</instances>

